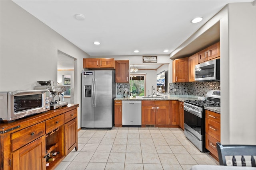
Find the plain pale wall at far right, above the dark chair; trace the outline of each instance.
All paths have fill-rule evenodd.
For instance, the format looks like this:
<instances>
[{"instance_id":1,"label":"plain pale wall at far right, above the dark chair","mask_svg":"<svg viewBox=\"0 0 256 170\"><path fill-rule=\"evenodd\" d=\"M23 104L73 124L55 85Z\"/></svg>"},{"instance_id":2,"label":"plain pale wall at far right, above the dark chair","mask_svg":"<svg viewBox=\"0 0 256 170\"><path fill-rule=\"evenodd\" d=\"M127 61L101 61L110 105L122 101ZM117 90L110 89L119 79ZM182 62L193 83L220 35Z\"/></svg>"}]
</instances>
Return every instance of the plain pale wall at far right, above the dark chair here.
<instances>
[{"instance_id":1,"label":"plain pale wall at far right, above the dark chair","mask_svg":"<svg viewBox=\"0 0 256 170\"><path fill-rule=\"evenodd\" d=\"M229 135L225 143L256 145L256 7L252 3L228 5L228 61L229 88L224 90L229 97L225 104L229 131L222 137Z\"/></svg>"}]
</instances>

